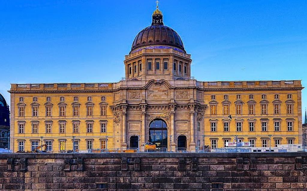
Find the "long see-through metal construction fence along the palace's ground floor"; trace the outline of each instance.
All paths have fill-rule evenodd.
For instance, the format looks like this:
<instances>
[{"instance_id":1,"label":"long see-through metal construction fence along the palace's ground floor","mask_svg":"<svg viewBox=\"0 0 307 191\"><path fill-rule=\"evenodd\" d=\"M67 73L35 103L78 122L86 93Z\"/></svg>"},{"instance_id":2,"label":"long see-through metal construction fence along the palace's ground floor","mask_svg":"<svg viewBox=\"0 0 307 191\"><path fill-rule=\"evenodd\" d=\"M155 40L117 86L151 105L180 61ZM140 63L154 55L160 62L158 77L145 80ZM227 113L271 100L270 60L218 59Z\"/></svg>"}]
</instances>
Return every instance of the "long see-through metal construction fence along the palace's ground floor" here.
<instances>
[{"instance_id":1,"label":"long see-through metal construction fence along the palace's ground floor","mask_svg":"<svg viewBox=\"0 0 307 191\"><path fill-rule=\"evenodd\" d=\"M147 141L145 141L147 139ZM306 134L11 137L12 152L305 152ZM126 144L121 144L126 141ZM145 142L145 143L144 143Z\"/></svg>"}]
</instances>

